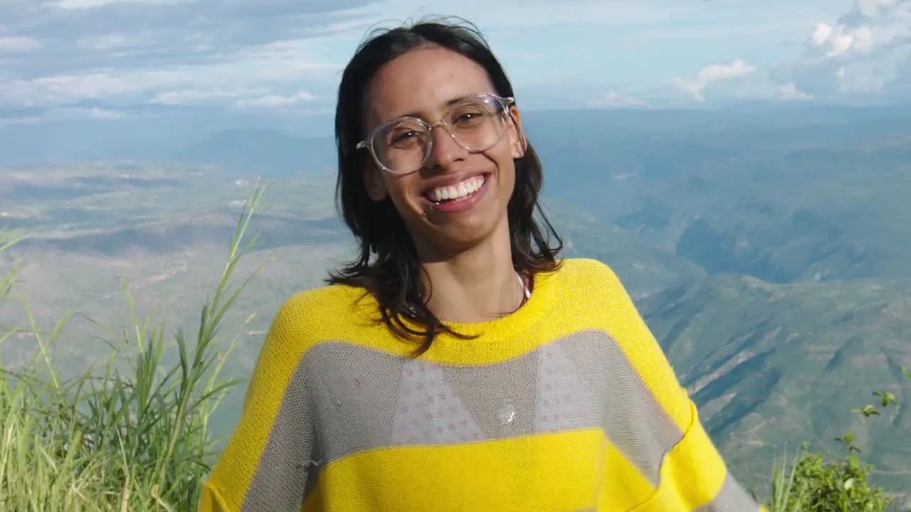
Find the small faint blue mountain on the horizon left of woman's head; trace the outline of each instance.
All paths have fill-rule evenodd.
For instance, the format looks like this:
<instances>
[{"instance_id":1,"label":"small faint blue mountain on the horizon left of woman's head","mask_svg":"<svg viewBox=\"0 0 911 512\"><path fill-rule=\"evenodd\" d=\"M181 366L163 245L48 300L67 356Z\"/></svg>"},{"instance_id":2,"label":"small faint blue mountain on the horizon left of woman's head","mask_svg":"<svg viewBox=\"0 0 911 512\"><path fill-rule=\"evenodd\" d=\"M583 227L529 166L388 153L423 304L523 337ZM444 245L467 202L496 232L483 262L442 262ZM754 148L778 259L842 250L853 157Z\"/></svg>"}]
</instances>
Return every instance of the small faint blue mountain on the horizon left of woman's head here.
<instances>
[{"instance_id":1,"label":"small faint blue mountain on the horizon left of woman's head","mask_svg":"<svg viewBox=\"0 0 911 512\"><path fill-rule=\"evenodd\" d=\"M225 130L182 148L172 158L215 164L271 178L335 169L335 139L298 138L278 130Z\"/></svg>"}]
</instances>

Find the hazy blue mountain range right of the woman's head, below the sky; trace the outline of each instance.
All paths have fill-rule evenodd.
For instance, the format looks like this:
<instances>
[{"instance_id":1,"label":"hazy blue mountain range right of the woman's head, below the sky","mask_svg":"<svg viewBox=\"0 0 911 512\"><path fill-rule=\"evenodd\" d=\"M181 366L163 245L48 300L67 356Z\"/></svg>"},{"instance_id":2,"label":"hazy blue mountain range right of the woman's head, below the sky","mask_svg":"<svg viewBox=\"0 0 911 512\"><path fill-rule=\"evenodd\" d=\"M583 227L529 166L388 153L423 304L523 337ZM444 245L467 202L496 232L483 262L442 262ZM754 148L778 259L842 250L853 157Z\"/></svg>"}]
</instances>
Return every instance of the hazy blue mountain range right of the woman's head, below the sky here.
<instances>
[{"instance_id":1,"label":"hazy blue mountain range right of the woman's head, below the sky","mask_svg":"<svg viewBox=\"0 0 911 512\"><path fill-rule=\"evenodd\" d=\"M777 131L570 120L529 128L546 195L662 251L769 282L911 277L911 118Z\"/></svg>"}]
</instances>

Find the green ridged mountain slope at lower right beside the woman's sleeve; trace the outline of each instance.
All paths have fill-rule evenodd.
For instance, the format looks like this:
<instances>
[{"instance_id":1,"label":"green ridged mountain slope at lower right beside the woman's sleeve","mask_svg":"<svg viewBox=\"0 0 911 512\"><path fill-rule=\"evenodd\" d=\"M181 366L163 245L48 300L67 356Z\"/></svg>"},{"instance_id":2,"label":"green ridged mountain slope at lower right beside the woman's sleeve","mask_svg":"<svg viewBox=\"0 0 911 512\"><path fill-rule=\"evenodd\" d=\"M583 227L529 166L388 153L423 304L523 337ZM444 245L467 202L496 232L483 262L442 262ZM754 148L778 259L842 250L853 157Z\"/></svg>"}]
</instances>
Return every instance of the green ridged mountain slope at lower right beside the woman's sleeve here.
<instances>
[{"instance_id":1,"label":"green ridged mountain slope at lower right beside the woman's sleeve","mask_svg":"<svg viewBox=\"0 0 911 512\"><path fill-rule=\"evenodd\" d=\"M804 441L835 450L850 429L891 488L911 481L911 280L772 284L738 275L639 302L712 439L759 486ZM862 423L874 390L898 413Z\"/></svg>"}]
</instances>

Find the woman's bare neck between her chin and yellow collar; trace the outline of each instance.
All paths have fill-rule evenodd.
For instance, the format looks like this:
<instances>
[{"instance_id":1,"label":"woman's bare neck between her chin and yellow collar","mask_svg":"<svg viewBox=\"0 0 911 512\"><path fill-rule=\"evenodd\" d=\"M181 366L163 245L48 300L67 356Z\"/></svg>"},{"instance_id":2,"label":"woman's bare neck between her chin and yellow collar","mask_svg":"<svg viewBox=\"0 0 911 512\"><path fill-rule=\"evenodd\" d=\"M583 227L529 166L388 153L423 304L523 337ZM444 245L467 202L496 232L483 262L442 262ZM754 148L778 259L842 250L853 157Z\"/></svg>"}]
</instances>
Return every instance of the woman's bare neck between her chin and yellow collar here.
<instances>
[{"instance_id":1,"label":"woman's bare neck between her chin and yellow collar","mask_svg":"<svg viewBox=\"0 0 911 512\"><path fill-rule=\"evenodd\" d=\"M424 263L427 305L441 321L489 322L515 312L525 300L524 280L517 279L513 267L508 228L498 231L452 258Z\"/></svg>"}]
</instances>

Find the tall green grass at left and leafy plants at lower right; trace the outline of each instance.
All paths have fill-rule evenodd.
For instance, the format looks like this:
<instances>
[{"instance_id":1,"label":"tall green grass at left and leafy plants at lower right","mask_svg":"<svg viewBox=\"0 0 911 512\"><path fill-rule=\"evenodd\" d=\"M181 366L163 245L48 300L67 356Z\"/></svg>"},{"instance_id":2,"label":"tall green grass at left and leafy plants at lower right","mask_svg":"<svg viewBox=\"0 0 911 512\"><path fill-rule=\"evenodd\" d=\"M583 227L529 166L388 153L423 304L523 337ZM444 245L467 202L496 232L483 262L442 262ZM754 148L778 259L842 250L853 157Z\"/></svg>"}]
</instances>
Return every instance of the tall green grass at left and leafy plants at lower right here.
<instances>
[{"instance_id":1,"label":"tall green grass at left and leafy plants at lower right","mask_svg":"<svg viewBox=\"0 0 911 512\"><path fill-rule=\"evenodd\" d=\"M256 241L247 239L262 189L241 213L228 261L200 312L195 340L167 324L140 319L125 287L132 327L111 341L102 368L75 378L59 372L54 348L66 318L42 332L26 305L26 327L0 326L0 349L25 336L36 343L26 370L0 371L0 510L184 511L197 507L200 487L217 456L209 421L228 388L221 376L233 343L220 350L219 326L248 282L232 285L238 261ZM0 252L17 239L0 229ZM0 276L0 307L13 294L15 267ZM2 353L2 351L0 351ZM171 361L172 362L169 362ZM123 362L131 364L124 367ZM0 359L0 368L3 368ZM906 373L907 374L907 373ZM911 374L907 374L911 378ZM897 406L878 392L878 404L855 413L870 418ZM883 512L894 507L885 489L870 483L872 466L858 456L853 435L838 439L844 456L807 445L777 461L769 512Z\"/></svg>"}]
</instances>

